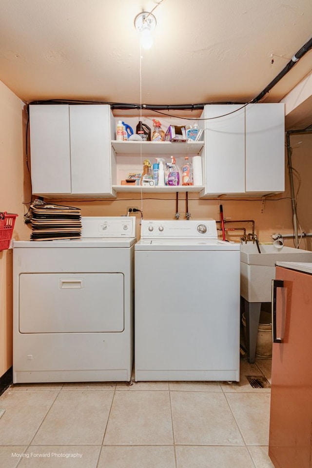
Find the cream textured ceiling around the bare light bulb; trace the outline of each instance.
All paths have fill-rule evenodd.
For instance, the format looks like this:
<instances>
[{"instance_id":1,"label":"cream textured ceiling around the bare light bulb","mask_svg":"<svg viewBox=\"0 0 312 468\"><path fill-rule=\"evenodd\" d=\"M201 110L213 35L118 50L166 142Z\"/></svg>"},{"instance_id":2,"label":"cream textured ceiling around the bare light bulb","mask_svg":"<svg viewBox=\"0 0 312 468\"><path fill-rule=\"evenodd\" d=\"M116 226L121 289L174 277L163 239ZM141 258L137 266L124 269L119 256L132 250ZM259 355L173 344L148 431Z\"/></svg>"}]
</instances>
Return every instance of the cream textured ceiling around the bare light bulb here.
<instances>
[{"instance_id":1,"label":"cream textured ceiling around the bare light bulb","mask_svg":"<svg viewBox=\"0 0 312 468\"><path fill-rule=\"evenodd\" d=\"M248 102L312 37L311 0L163 0L140 59L134 19L156 5L1 0L0 80L27 102ZM281 100L311 70L310 51L263 101Z\"/></svg>"}]
</instances>

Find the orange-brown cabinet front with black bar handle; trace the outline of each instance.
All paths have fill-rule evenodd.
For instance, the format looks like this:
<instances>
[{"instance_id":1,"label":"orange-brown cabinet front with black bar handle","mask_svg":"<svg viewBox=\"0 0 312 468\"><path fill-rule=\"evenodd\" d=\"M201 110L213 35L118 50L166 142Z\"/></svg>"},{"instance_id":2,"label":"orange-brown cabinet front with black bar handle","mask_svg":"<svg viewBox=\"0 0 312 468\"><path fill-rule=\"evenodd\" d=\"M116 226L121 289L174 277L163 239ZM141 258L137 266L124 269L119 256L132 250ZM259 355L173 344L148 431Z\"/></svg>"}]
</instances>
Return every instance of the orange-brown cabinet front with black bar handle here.
<instances>
[{"instance_id":1,"label":"orange-brown cabinet front with black bar handle","mask_svg":"<svg viewBox=\"0 0 312 468\"><path fill-rule=\"evenodd\" d=\"M269 455L274 467L311 468L312 275L276 267L284 281L276 295Z\"/></svg>"}]
</instances>

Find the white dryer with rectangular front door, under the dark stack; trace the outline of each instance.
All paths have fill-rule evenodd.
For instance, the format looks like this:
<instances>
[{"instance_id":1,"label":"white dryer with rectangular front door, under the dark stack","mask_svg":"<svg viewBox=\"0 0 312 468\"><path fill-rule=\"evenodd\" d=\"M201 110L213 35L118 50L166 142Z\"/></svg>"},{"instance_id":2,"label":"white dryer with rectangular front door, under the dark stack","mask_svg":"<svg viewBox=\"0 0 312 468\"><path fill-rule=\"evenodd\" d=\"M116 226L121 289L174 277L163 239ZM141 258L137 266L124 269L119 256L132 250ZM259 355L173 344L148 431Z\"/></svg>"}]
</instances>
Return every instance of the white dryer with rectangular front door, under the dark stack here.
<instances>
[{"instance_id":1,"label":"white dryer with rectangular front door, under the dark stack","mask_svg":"<svg viewBox=\"0 0 312 468\"><path fill-rule=\"evenodd\" d=\"M13 243L13 382L129 381L134 217L82 217L77 240Z\"/></svg>"}]
</instances>

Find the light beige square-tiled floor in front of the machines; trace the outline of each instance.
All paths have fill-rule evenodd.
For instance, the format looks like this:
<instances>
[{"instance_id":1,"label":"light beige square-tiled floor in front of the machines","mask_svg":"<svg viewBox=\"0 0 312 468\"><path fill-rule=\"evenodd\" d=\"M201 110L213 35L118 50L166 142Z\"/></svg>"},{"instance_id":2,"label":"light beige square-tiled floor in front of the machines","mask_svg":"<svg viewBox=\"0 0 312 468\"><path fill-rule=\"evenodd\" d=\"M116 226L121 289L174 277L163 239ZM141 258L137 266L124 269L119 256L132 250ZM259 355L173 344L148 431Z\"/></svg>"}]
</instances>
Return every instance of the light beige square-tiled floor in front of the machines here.
<instances>
[{"instance_id":1,"label":"light beige square-tiled floor in front of the machines","mask_svg":"<svg viewBox=\"0 0 312 468\"><path fill-rule=\"evenodd\" d=\"M0 396L0 467L273 468L271 360L239 383L19 384Z\"/></svg>"}]
</instances>

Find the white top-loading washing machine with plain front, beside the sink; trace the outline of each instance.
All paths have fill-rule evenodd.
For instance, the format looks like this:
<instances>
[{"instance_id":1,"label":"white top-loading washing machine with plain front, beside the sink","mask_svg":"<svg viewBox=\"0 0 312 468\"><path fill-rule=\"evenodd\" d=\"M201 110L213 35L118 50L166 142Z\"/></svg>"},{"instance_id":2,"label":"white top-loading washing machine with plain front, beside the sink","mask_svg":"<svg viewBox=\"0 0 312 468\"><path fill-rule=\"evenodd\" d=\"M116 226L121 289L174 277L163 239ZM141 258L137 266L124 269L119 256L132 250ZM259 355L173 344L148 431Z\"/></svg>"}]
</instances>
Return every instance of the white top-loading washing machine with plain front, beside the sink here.
<instances>
[{"instance_id":1,"label":"white top-loading washing machine with plain front, beside the sink","mask_svg":"<svg viewBox=\"0 0 312 468\"><path fill-rule=\"evenodd\" d=\"M240 244L216 222L142 221L135 380L239 381Z\"/></svg>"}]
</instances>

